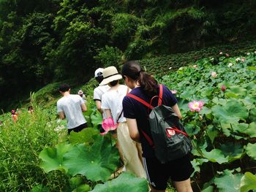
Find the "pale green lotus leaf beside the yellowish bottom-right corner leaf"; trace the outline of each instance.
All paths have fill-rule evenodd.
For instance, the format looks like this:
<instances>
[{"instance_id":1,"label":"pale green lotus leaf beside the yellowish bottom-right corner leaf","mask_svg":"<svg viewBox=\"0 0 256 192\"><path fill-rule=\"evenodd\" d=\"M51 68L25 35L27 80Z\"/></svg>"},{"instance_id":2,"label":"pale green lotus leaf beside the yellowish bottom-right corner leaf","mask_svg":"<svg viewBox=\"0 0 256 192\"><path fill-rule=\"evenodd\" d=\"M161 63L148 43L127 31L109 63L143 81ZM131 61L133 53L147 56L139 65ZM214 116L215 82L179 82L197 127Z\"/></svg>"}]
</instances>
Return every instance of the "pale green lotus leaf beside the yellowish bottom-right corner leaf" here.
<instances>
[{"instance_id":1,"label":"pale green lotus leaf beside the yellowish bottom-right corner leaf","mask_svg":"<svg viewBox=\"0 0 256 192\"><path fill-rule=\"evenodd\" d=\"M230 170L225 170L220 177L216 177L214 180L215 185L219 189L219 192L234 192L240 191L240 180L242 174L233 174Z\"/></svg>"}]
</instances>

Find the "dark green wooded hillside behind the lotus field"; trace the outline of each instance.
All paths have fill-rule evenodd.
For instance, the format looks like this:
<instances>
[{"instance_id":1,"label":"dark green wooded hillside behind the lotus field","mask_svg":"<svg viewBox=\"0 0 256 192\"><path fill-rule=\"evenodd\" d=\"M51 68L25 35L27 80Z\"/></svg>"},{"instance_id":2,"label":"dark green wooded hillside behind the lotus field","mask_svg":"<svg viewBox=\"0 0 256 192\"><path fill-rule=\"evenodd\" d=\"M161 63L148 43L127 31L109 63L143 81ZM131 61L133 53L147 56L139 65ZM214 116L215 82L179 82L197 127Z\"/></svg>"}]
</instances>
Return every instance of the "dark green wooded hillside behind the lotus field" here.
<instances>
[{"instance_id":1,"label":"dark green wooded hillside behind the lotus field","mask_svg":"<svg viewBox=\"0 0 256 192\"><path fill-rule=\"evenodd\" d=\"M3 111L51 82L83 85L99 66L256 39L255 0L0 0L0 8Z\"/></svg>"}]
</instances>

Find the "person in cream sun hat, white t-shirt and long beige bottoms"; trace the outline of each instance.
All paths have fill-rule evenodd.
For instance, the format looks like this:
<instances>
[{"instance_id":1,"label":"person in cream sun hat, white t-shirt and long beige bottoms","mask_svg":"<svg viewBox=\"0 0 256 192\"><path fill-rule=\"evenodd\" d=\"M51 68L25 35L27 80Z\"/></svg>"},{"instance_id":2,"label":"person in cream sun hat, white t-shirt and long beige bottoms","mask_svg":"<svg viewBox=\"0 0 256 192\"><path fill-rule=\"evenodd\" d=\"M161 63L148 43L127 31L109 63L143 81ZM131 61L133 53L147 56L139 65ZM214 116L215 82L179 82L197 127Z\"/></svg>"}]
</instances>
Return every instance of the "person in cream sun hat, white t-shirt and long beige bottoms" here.
<instances>
[{"instance_id":1,"label":"person in cream sun hat, white t-shirt and long beige bottoms","mask_svg":"<svg viewBox=\"0 0 256 192\"><path fill-rule=\"evenodd\" d=\"M146 178L142 161L140 161L141 150L140 144L132 141L129 137L129 129L126 118L123 115L122 101L124 96L129 92L126 85L120 85L121 74L115 66L109 66L102 72L104 79L99 85L109 85L110 89L102 95L102 110L107 118L112 117L115 124L118 123L117 139L118 150L124 155L124 166L127 172L132 172L137 177Z\"/></svg>"}]
</instances>

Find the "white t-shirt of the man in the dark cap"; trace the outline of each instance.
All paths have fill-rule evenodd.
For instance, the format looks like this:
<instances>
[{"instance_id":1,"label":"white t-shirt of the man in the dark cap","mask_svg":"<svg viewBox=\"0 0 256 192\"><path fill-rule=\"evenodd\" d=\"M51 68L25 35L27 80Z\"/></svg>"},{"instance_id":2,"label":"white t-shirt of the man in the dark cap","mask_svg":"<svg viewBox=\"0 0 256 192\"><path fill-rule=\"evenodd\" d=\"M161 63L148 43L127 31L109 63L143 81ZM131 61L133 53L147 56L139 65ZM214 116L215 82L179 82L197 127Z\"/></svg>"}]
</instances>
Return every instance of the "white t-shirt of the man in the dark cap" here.
<instances>
[{"instance_id":1,"label":"white t-shirt of the man in the dark cap","mask_svg":"<svg viewBox=\"0 0 256 192\"><path fill-rule=\"evenodd\" d=\"M83 104L83 99L72 94L63 96L57 101L57 111L64 112L67 118L67 128L75 128L86 123L81 104Z\"/></svg>"}]
</instances>

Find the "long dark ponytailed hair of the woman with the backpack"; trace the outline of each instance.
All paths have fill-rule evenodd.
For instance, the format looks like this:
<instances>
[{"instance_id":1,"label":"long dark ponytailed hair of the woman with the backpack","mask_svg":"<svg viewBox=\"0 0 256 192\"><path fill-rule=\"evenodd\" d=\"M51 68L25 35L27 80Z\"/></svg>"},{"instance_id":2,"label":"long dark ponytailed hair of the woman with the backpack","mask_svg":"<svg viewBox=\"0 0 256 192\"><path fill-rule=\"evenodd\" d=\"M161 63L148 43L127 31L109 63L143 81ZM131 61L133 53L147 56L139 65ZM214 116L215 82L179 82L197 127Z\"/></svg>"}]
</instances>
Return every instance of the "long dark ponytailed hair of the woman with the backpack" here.
<instances>
[{"instance_id":1,"label":"long dark ponytailed hair of the woman with the backpack","mask_svg":"<svg viewBox=\"0 0 256 192\"><path fill-rule=\"evenodd\" d=\"M138 61L127 61L121 69L121 74L138 81L143 92L148 96L157 94L158 83L150 74L143 71Z\"/></svg>"}]
</instances>

